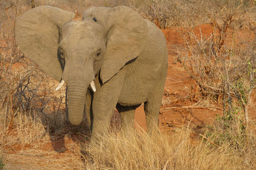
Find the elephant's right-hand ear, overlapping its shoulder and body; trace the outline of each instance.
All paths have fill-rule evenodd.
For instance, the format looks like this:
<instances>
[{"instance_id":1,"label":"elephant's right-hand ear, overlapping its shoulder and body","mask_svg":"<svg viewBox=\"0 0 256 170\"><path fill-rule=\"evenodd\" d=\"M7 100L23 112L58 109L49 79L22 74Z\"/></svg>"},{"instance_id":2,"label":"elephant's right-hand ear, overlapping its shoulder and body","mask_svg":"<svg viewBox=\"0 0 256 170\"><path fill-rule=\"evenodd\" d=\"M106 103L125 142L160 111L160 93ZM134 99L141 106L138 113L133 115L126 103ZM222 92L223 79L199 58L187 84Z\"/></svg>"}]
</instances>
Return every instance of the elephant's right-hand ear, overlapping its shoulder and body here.
<instances>
[{"instance_id":1,"label":"elephant's right-hand ear, overlapping its shoulder and body","mask_svg":"<svg viewBox=\"0 0 256 170\"><path fill-rule=\"evenodd\" d=\"M143 50L148 36L147 23L127 6L90 8L84 12L86 17L95 17L108 30L100 69L100 78L105 83Z\"/></svg>"}]
</instances>

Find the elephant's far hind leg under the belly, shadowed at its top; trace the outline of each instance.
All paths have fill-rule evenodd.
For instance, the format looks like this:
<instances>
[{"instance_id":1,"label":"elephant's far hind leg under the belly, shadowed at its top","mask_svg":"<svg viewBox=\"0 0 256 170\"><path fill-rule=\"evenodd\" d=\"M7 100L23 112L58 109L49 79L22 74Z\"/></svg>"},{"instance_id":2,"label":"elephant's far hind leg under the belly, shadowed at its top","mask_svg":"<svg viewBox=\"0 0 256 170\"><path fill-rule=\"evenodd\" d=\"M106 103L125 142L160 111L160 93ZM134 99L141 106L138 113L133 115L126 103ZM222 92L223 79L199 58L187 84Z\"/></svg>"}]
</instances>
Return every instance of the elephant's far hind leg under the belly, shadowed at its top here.
<instances>
[{"instance_id":1,"label":"elephant's far hind leg under the belly, shadowed at its top","mask_svg":"<svg viewBox=\"0 0 256 170\"><path fill-rule=\"evenodd\" d=\"M122 131L126 131L127 129L134 127L134 113L137 107L138 106L122 106L120 104L116 104L116 109L121 116Z\"/></svg>"}]
</instances>

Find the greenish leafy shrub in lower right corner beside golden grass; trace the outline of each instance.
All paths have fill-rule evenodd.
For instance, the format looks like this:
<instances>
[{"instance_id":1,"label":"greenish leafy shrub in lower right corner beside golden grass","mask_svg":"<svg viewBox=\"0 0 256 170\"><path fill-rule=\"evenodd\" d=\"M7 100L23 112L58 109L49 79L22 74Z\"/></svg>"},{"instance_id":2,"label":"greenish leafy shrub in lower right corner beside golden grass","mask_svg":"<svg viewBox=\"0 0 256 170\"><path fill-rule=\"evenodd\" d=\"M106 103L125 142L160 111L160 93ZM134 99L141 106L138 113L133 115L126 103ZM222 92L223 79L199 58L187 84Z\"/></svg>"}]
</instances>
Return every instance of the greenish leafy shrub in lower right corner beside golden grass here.
<instances>
[{"instance_id":1,"label":"greenish leafy shrub in lower right corner beside golden grass","mask_svg":"<svg viewBox=\"0 0 256 170\"><path fill-rule=\"evenodd\" d=\"M234 159L237 165L234 169L255 169L255 122L251 122L248 129L241 112L237 110L230 117L217 117L214 124L207 127L205 139L214 143L214 147L220 148L223 153L228 153L230 161L237 159Z\"/></svg>"}]
</instances>

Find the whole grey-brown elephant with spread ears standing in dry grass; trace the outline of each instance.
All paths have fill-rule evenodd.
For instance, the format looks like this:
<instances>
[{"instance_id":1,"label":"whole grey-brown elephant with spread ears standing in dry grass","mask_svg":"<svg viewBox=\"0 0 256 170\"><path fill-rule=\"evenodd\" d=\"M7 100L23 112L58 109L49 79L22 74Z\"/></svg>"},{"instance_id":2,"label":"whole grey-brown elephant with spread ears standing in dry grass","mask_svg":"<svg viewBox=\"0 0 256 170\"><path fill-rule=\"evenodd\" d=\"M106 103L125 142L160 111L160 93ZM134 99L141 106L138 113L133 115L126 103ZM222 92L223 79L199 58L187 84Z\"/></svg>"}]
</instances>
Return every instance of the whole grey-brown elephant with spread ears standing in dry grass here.
<instances>
[{"instance_id":1,"label":"whole grey-brown elephant with spread ears standing in dry grass","mask_svg":"<svg viewBox=\"0 0 256 170\"><path fill-rule=\"evenodd\" d=\"M70 123L81 123L85 104L93 135L108 129L115 108L122 128L132 127L134 111L144 103L151 133L158 124L167 72L164 34L126 6L90 8L83 20L72 18L69 11L39 6L26 11L15 26L22 52L67 83ZM90 88L93 80L96 90Z\"/></svg>"}]
</instances>

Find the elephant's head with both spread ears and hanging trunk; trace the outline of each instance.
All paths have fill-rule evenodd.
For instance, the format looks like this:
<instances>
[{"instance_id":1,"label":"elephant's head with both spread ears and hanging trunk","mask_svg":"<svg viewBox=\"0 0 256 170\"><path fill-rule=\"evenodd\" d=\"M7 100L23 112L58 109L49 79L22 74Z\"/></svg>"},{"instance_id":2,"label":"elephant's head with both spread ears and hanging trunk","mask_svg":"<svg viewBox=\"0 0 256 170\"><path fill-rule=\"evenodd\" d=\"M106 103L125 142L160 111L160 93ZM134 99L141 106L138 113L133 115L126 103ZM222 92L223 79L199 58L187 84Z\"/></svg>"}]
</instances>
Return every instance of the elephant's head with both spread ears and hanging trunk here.
<instances>
[{"instance_id":1,"label":"elephant's head with both spread ears and hanging trunk","mask_svg":"<svg viewBox=\"0 0 256 170\"><path fill-rule=\"evenodd\" d=\"M72 18L74 13L39 6L19 17L15 36L22 52L45 73L67 83L68 117L78 125L95 76L100 74L104 84L138 57L148 31L145 20L125 6L90 8L83 20Z\"/></svg>"}]
</instances>

